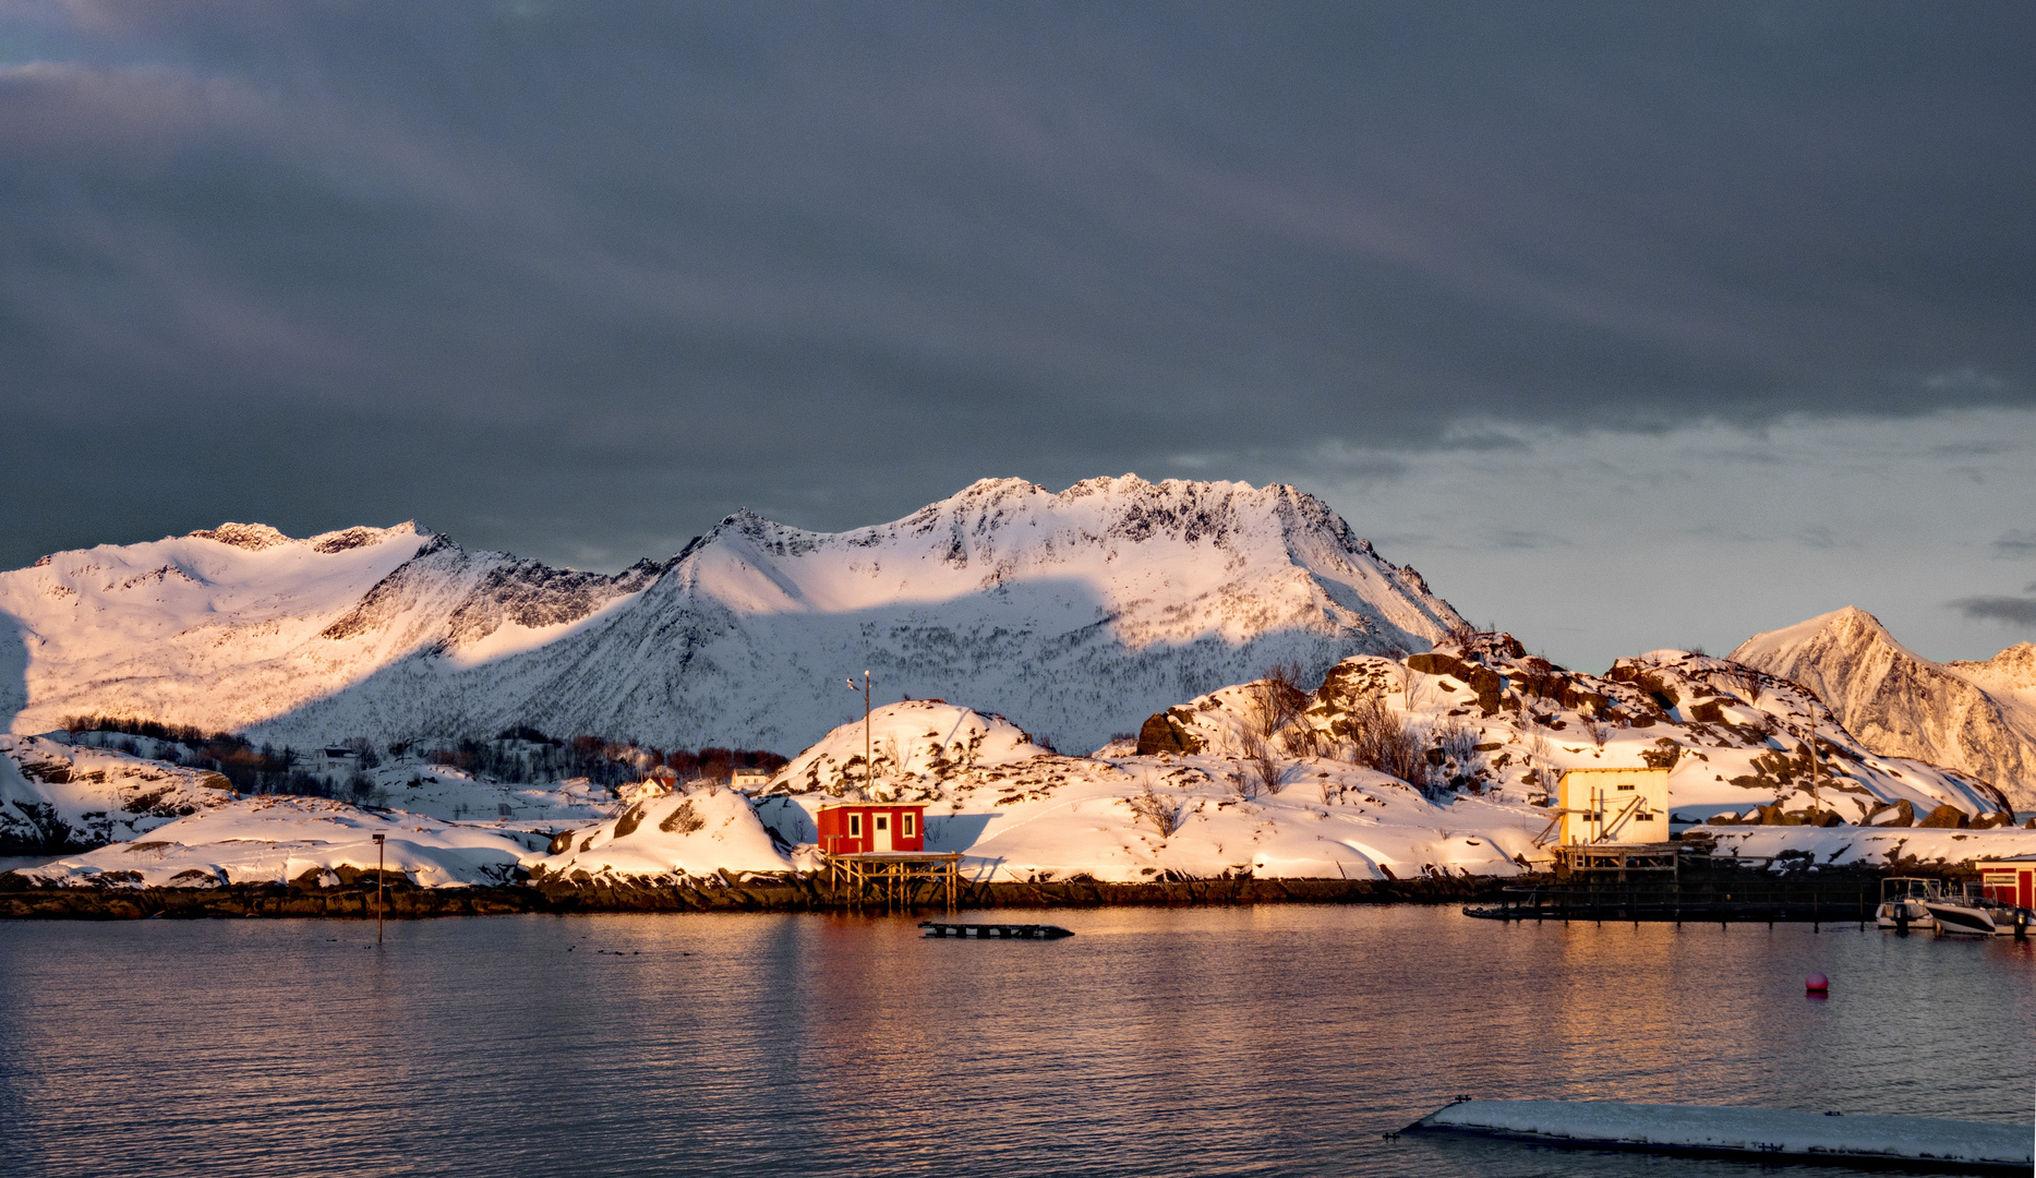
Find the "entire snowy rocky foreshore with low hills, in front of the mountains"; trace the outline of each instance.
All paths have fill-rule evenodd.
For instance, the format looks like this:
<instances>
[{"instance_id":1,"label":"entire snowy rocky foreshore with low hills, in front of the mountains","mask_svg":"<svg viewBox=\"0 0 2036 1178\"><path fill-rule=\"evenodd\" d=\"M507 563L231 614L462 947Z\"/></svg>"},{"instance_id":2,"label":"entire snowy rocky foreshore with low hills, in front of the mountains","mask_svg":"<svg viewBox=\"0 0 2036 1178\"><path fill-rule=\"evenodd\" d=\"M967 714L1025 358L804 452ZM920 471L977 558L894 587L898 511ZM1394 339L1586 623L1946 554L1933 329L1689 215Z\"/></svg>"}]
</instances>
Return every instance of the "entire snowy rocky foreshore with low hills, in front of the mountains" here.
<instances>
[{"instance_id":1,"label":"entire snowy rocky foreshore with low hills, in front of the mountains","mask_svg":"<svg viewBox=\"0 0 2036 1178\"><path fill-rule=\"evenodd\" d=\"M727 887L812 872L814 811L841 799L924 805L928 850L959 852L977 882L1496 880L1547 866L1562 770L1639 764L1670 768L1672 809L1702 819L1692 829L1724 856L1898 866L2036 852L2036 829L2007 825L1985 783L1867 752L1788 681L1676 650L1592 677L1503 634L1352 656L1313 693L1291 675L1224 687L1089 756L994 711L892 703L867 734L839 726L741 789L672 774L531 787L438 766L403 783L405 809L238 797L55 736L0 748L14 809L33 793L124 836L14 872L16 889L336 887L375 868L377 832L389 870L417 889Z\"/></svg>"}]
</instances>

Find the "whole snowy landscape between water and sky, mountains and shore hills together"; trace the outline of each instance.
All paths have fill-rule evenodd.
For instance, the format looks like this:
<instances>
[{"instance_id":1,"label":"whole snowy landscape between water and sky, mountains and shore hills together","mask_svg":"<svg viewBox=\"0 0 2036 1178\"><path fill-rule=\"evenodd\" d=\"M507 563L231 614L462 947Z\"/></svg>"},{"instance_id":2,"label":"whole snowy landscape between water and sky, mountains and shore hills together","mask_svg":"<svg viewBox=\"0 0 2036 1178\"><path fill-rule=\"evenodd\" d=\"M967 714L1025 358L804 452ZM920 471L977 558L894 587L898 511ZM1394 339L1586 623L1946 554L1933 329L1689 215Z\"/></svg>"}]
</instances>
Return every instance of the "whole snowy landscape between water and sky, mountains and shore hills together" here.
<instances>
[{"instance_id":1,"label":"whole snowy landscape between water and sky, mountains and shore hills together","mask_svg":"<svg viewBox=\"0 0 2036 1178\"><path fill-rule=\"evenodd\" d=\"M1582 675L1281 485L739 512L617 575L224 524L0 573L0 854L63 856L16 893L344 891L375 834L434 893L802 880L853 799L924 807L977 885L1492 882L1547 868L1564 770L1625 766L1727 862L2036 852L2026 652L1926 664L1841 611ZM841 724L865 666L951 703Z\"/></svg>"}]
</instances>

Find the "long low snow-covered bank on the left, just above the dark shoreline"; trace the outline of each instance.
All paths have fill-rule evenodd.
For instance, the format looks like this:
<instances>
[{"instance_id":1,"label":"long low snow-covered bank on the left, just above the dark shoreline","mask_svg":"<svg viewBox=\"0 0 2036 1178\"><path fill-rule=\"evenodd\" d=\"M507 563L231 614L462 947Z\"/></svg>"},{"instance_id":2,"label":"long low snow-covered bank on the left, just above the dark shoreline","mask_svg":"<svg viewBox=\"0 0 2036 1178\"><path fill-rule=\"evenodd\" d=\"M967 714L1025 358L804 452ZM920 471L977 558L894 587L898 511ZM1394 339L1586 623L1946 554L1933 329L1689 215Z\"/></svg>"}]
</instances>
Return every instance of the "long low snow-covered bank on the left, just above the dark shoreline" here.
<instances>
[{"instance_id":1,"label":"long low snow-covered bank on the left, just above the dark shoreline","mask_svg":"<svg viewBox=\"0 0 2036 1178\"><path fill-rule=\"evenodd\" d=\"M336 887L336 868L373 870L375 836L391 872L417 887L501 885L542 852L529 834L460 825L403 811L366 811L316 797L252 797L179 817L147 838L104 846L14 874L33 887L224 887L297 882Z\"/></svg>"}]
</instances>

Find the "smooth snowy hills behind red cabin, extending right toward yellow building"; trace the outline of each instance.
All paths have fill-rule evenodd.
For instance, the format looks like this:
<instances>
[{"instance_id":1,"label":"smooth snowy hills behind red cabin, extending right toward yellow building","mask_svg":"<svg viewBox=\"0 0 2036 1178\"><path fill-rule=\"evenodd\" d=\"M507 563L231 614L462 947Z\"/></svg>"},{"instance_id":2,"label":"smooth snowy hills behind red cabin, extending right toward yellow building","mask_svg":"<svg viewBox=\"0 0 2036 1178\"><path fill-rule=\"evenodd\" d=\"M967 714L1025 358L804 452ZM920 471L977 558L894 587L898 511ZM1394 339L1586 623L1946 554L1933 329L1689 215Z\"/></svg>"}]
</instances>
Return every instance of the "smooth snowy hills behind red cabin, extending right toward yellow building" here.
<instances>
[{"instance_id":1,"label":"smooth snowy hills behind red cabin, extending right toward yellow building","mask_svg":"<svg viewBox=\"0 0 2036 1178\"><path fill-rule=\"evenodd\" d=\"M1513 874L1545 817L1521 803L1439 805L1382 772L1295 758L1272 787L1226 756L1061 756L1000 715L941 701L845 724L794 758L757 799L788 844L812 844L818 807L843 799L926 803L926 850L961 852L973 878L1417 878Z\"/></svg>"}]
</instances>

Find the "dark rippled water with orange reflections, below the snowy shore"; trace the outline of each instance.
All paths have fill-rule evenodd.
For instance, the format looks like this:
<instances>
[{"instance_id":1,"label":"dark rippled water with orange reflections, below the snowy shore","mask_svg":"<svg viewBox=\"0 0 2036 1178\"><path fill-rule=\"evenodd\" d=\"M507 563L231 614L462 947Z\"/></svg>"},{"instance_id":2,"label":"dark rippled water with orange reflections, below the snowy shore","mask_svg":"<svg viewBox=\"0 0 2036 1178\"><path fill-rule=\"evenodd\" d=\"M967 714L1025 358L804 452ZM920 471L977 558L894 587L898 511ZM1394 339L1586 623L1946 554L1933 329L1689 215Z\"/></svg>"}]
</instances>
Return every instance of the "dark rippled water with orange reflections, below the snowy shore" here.
<instances>
[{"instance_id":1,"label":"dark rippled water with orange reflections, below the snowy shore","mask_svg":"<svg viewBox=\"0 0 2036 1178\"><path fill-rule=\"evenodd\" d=\"M0 923L0 1170L1753 1174L1380 1131L1458 1092L2014 1123L2036 1092L2036 952L2007 940L1444 907L1051 919L1079 935Z\"/></svg>"}]
</instances>

